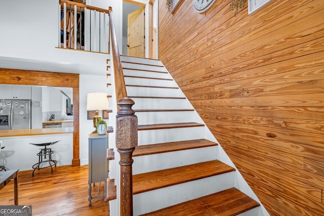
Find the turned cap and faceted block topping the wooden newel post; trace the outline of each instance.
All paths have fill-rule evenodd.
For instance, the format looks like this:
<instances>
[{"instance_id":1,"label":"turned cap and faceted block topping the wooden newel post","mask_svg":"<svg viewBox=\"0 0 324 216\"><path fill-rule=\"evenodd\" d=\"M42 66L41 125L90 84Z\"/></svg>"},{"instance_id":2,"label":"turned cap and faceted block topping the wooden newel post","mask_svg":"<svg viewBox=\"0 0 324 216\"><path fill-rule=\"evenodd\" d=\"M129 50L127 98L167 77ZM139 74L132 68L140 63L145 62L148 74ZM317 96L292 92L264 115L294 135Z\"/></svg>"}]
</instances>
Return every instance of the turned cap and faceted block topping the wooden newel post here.
<instances>
[{"instance_id":1,"label":"turned cap and faceted block topping the wooden newel post","mask_svg":"<svg viewBox=\"0 0 324 216\"><path fill-rule=\"evenodd\" d=\"M120 109L116 116L116 147L131 149L137 146L137 116L132 106L135 102L130 98L121 98L117 101Z\"/></svg>"}]
</instances>

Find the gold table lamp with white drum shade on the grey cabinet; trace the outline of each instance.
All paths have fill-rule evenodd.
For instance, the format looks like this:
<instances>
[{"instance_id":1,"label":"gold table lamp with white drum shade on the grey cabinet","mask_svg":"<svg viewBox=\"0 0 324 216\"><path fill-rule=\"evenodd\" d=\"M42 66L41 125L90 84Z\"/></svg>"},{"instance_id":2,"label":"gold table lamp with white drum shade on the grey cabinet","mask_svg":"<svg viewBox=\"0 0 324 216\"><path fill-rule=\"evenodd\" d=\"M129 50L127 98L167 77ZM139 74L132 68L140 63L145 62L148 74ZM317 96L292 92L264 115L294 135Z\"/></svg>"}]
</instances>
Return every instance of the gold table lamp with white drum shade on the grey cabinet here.
<instances>
[{"instance_id":1,"label":"gold table lamp with white drum shade on the grey cabinet","mask_svg":"<svg viewBox=\"0 0 324 216\"><path fill-rule=\"evenodd\" d=\"M95 131L93 134L97 133L97 122L101 120L99 115L99 110L107 110L108 109L108 98L107 93L95 92L88 93L87 95L87 111L96 110L95 116L93 116L93 126L95 127Z\"/></svg>"}]
</instances>

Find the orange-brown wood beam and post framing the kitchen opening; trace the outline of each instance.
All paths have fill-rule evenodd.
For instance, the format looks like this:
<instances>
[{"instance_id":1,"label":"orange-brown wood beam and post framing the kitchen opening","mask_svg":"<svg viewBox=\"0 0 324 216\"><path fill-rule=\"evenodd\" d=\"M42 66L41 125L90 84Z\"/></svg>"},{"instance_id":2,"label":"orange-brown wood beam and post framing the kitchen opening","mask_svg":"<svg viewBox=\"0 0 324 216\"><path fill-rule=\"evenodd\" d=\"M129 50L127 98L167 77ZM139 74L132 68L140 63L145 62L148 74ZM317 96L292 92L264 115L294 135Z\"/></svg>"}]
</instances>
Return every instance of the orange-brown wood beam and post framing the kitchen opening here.
<instances>
[{"instance_id":1,"label":"orange-brown wood beam and post framing the kitchen opening","mask_svg":"<svg viewBox=\"0 0 324 216\"><path fill-rule=\"evenodd\" d=\"M79 74L0 68L0 80L0 84L48 85L73 88L72 166L79 166Z\"/></svg>"}]
</instances>

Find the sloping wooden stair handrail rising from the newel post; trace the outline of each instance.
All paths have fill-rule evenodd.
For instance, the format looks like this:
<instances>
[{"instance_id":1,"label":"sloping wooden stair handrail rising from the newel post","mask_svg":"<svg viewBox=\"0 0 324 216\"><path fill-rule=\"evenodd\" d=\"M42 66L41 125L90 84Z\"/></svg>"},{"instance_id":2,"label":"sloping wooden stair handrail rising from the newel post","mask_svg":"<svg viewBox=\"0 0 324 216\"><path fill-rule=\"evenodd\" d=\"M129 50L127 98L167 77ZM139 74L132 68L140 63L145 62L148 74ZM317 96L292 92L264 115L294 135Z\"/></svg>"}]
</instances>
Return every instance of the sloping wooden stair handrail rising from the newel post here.
<instances>
[{"instance_id":1,"label":"sloping wooden stair handrail rising from the newel post","mask_svg":"<svg viewBox=\"0 0 324 216\"><path fill-rule=\"evenodd\" d=\"M123 73L123 67L121 67L120 55L117 43L117 36L115 25L112 17L112 8L109 7L109 26L111 32L111 48L112 48L112 60L115 76L115 89L116 89L116 101L121 98L127 97L126 85Z\"/></svg>"}]
</instances>

